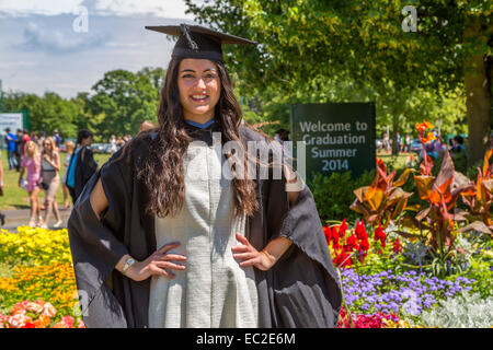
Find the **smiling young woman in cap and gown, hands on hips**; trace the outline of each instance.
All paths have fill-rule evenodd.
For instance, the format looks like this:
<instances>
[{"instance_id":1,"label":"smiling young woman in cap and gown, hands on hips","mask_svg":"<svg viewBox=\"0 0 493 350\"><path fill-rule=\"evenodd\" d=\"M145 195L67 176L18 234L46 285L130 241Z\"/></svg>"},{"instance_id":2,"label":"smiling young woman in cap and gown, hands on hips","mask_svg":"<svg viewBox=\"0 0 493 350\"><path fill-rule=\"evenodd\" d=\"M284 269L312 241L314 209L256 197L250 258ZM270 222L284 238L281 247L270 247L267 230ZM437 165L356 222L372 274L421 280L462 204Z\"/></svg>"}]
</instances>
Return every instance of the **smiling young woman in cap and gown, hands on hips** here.
<instances>
[{"instance_id":1,"label":"smiling young woman in cap and gown, hands on hips","mask_svg":"<svg viewBox=\"0 0 493 350\"><path fill-rule=\"evenodd\" d=\"M159 126L90 179L68 222L84 324L334 327L341 289L310 190L286 189L291 171L242 176L265 166L246 144L267 143L241 126L219 43L252 43L151 28L180 36Z\"/></svg>"}]
</instances>

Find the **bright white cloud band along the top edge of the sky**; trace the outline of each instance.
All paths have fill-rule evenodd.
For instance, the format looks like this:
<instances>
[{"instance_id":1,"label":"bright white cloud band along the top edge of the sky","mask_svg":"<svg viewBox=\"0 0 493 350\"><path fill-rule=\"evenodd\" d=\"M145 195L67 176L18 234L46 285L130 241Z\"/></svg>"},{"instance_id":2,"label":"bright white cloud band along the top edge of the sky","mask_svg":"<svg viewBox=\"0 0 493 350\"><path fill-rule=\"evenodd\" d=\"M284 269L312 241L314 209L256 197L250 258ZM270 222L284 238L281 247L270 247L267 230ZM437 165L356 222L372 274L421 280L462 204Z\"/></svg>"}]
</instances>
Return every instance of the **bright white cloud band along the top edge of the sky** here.
<instances>
[{"instance_id":1,"label":"bright white cloud band along the top edge of the sky","mask_svg":"<svg viewBox=\"0 0 493 350\"><path fill-rule=\"evenodd\" d=\"M193 19L185 14L183 0L0 0L0 13L11 16L59 15L74 13L79 5L85 5L90 14Z\"/></svg>"}]
</instances>

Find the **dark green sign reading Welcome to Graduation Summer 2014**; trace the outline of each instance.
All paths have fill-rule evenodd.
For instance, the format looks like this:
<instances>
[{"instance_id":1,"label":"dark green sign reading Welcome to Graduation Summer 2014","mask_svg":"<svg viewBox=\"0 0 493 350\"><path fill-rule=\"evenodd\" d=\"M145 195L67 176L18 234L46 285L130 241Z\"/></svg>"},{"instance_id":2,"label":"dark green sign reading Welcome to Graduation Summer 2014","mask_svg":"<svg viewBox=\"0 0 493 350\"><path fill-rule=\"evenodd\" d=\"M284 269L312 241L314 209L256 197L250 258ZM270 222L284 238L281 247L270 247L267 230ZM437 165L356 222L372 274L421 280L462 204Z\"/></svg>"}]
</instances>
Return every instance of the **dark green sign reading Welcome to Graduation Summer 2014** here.
<instances>
[{"instance_id":1,"label":"dark green sign reading Welcome to Graduation Summer 2014","mask_svg":"<svg viewBox=\"0 0 493 350\"><path fill-rule=\"evenodd\" d=\"M356 177L375 168L375 104L326 103L291 105L294 155L305 141L306 175L351 171Z\"/></svg>"}]
</instances>

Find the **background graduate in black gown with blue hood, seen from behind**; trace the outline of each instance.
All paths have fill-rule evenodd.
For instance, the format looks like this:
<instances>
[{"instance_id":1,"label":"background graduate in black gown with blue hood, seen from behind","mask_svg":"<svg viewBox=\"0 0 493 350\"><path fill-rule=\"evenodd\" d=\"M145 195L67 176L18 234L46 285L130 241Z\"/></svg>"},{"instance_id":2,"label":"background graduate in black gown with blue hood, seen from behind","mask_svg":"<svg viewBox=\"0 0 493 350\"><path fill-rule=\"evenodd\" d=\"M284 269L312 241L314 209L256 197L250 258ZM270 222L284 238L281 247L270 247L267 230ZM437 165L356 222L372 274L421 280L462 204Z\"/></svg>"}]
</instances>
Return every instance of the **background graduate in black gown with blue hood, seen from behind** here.
<instances>
[{"instance_id":1,"label":"background graduate in black gown with blue hood, seen from behind","mask_svg":"<svg viewBox=\"0 0 493 350\"><path fill-rule=\"evenodd\" d=\"M77 135L78 148L70 158L69 168L67 171L67 187L76 203L85 184L98 168L94 155L90 145L92 143L92 132L89 130L80 130Z\"/></svg>"}]
</instances>

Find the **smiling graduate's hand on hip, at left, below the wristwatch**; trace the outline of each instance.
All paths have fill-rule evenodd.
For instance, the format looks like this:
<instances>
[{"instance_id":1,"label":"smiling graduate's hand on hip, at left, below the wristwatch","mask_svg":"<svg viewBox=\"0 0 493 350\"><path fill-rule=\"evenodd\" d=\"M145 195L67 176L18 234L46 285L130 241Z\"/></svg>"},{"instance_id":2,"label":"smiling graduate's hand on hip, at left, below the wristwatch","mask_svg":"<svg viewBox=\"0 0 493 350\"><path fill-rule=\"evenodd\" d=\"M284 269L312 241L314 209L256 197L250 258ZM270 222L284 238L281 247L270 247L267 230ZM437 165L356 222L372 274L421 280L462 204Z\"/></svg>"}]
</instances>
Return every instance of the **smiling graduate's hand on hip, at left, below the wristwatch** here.
<instances>
[{"instance_id":1,"label":"smiling graduate's hand on hip, at left, below the wristwatch","mask_svg":"<svg viewBox=\"0 0 493 350\"><path fill-rule=\"evenodd\" d=\"M180 242L163 245L146 260L135 262L133 266L130 266L125 276L137 282L144 281L152 275L173 279L175 275L170 270L183 271L185 269L185 266L176 262L186 261L186 256L184 255L168 253L169 250L174 249L177 246L180 246Z\"/></svg>"}]
</instances>

